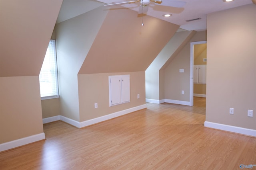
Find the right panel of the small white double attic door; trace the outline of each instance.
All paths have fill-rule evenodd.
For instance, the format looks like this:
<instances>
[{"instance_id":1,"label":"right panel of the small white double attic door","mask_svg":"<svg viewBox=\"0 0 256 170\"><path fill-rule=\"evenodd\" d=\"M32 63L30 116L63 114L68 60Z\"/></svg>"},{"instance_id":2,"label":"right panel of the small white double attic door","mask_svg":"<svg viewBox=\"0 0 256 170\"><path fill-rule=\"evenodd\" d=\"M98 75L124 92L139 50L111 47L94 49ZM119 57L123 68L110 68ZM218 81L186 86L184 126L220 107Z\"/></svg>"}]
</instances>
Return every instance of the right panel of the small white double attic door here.
<instances>
[{"instance_id":1,"label":"right panel of the small white double attic door","mask_svg":"<svg viewBox=\"0 0 256 170\"><path fill-rule=\"evenodd\" d=\"M130 75L122 75L122 103L130 102Z\"/></svg>"}]
</instances>

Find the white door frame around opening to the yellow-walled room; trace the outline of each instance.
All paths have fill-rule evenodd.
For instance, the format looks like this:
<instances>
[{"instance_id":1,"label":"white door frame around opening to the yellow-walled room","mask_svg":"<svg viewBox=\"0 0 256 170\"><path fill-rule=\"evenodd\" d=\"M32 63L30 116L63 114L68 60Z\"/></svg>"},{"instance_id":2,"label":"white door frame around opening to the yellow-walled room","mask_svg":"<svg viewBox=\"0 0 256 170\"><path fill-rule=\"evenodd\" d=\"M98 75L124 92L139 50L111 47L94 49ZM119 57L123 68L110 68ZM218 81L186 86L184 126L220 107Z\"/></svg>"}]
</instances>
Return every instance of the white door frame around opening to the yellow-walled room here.
<instances>
[{"instance_id":1,"label":"white door frame around opening to the yellow-walled room","mask_svg":"<svg viewBox=\"0 0 256 170\"><path fill-rule=\"evenodd\" d=\"M194 45L205 44L206 41L197 41L190 43L190 94L189 94L189 106L194 105L194 83L193 83L193 72L194 72Z\"/></svg>"}]
</instances>

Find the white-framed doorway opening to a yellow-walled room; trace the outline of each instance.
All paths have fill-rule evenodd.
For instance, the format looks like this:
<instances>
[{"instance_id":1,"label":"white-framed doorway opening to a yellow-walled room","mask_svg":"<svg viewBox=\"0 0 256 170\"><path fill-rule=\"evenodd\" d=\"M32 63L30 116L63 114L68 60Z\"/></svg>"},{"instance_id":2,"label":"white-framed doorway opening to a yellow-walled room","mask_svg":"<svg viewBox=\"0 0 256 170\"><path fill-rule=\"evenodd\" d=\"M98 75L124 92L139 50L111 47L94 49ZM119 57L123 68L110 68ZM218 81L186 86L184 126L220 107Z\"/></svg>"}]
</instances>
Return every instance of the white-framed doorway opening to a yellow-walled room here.
<instances>
[{"instance_id":1,"label":"white-framed doorway opening to a yellow-walled room","mask_svg":"<svg viewBox=\"0 0 256 170\"><path fill-rule=\"evenodd\" d=\"M200 47L200 45L202 45L203 47L203 44L206 44L206 41L198 41L198 42L190 43L190 106L194 105L194 82L196 85L196 90L198 90L197 92L202 93L200 94L202 96L198 95L198 97L206 97L206 61L207 59L206 57L203 56L203 53L206 54L206 51L204 51L204 49ZM199 46L195 47L195 45L199 45ZM194 69L194 53L195 53L195 49L197 48L199 48L200 50L197 52L198 57L196 57L198 61L195 61L195 63L197 64L196 66L197 69L196 68Z\"/></svg>"}]
</instances>

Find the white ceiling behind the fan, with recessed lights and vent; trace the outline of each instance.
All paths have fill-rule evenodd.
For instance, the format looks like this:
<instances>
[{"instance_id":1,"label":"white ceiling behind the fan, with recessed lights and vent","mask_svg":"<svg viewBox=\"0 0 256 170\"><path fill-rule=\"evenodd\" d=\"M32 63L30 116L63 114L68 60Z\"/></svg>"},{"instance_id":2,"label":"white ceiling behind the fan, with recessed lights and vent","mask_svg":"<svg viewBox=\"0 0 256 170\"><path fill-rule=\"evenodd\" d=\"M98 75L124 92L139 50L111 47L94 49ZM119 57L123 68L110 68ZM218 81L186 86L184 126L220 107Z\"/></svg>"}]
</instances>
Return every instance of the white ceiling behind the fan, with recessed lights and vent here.
<instances>
[{"instance_id":1,"label":"white ceiling behind the fan, with recessed lights and vent","mask_svg":"<svg viewBox=\"0 0 256 170\"><path fill-rule=\"evenodd\" d=\"M63 0L62 7L60 9L60 14L58 16L57 23L61 21L68 20L104 4L112 4L118 2L126 2L127 0ZM128 0L129 1L129 0ZM169 1L169 0L162 0ZM235 8L238 6L243 6L247 4L252 4L252 0L234 0L232 2L223 2L222 0L177 0L184 1L186 5L183 8L174 8L167 6L160 6L150 2L150 7L148 8L147 15L165 20L177 25L180 25L180 28L185 30L196 30L202 31L206 30L206 17L207 14L226 10L229 8ZM103 3L101 3L103 2ZM134 4L125 4L120 7L130 8L132 10L138 11L140 2ZM115 6L116 7L116 6ZM105 7L108 9L109 7ZM163 14L172 14L171 17L163 17ZM201 20L190 21L195 18L202 18ZM144 23L146 25L146 23Z\"/></svg>"}]
</instances>

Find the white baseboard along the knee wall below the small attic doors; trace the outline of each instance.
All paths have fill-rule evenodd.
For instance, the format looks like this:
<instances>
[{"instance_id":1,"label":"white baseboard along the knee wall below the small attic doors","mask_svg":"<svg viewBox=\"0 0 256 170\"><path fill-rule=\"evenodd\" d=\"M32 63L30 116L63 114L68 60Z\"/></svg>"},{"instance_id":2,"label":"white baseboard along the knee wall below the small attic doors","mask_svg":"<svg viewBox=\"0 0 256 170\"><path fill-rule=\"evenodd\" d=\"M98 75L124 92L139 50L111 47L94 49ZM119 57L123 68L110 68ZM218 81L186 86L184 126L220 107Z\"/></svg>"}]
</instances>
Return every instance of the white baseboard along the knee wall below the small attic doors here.
<instances>
[{"instance_id":1,"label":"white baseboard along the knee wall below the small attic doors","mask_svg":"<svg viewBox=\"0 0 256 170\"><path fill-rule=\"evenodd\" d=\"M129 108L129 109L126 109L126 110L121 110L121 111L111 113L111 114L108 114L108 115L104 115L104 116L101 116L101 117L96 117L94 119L82 121L82 122L80 122L80 128L86 127L86 126L89 126L89 125L93 125L95 123L99 123L99 122L102 122L102 121L106 121L108 119L113 119L115 117L125 115L125 114L128 114L128 113L137 111L137 110L145 109L145 108L147 108L147 106L146 106L146 104L143 104L143 105L140 105L140 106L132 107L132 108Z\"/></svg>"}]
</instances>

